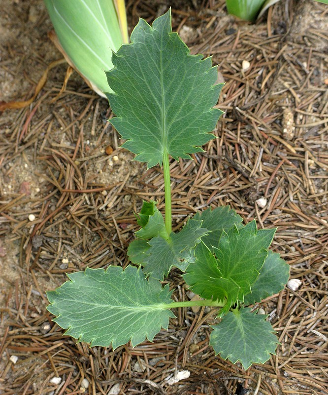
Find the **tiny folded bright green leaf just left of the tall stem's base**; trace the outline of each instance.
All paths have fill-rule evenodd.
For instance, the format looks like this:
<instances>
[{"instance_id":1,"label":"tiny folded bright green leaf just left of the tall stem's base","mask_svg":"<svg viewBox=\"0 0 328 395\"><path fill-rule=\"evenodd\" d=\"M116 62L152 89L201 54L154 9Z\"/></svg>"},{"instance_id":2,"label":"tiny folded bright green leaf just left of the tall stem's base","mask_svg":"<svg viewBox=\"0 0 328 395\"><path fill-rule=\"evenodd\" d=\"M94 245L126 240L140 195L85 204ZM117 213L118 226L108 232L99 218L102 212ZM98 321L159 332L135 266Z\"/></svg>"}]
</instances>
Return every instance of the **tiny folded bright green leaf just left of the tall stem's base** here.
<instances>
[{"instance_id":1,"label":"tiny folded bright green leaf just left of the tall stem's base","mask_svg":"<svg viewBox=\"0 0 328 395\"><path fill-rule=\"evenodd\" d=\"M156 207L156 202L144 201L140 214L136 214L137 224L141 229L135 232L139 238L149 239L156 236L167 238L163 215Z\"/></svg>"}]
</instances>

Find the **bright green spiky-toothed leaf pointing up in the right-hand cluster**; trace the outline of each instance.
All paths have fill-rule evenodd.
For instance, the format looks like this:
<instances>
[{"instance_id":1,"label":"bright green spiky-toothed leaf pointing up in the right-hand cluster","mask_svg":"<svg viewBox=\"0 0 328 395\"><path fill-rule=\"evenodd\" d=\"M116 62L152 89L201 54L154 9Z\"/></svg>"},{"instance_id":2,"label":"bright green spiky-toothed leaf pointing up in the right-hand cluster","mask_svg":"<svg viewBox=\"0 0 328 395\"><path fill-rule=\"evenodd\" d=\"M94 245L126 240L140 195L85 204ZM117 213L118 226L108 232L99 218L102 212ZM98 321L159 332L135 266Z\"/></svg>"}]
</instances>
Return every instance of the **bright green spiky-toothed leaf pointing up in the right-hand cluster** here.
<instances>
[{"instance_id":1,"label":"bright green spiky-toothed leaf pointing up in the right-hand cluster","mask_svg":"<svg viewBox=\"0 0 328 395\"><path fill-rule=\"evenodd\" d=\"M251 291L259 276L275 231L258 231L254 220L239 230L223 232L218 248L213 248L221 276L232 279L240 287L239 300L243 301L243 295Z\"/></svg>"}]
</instances>

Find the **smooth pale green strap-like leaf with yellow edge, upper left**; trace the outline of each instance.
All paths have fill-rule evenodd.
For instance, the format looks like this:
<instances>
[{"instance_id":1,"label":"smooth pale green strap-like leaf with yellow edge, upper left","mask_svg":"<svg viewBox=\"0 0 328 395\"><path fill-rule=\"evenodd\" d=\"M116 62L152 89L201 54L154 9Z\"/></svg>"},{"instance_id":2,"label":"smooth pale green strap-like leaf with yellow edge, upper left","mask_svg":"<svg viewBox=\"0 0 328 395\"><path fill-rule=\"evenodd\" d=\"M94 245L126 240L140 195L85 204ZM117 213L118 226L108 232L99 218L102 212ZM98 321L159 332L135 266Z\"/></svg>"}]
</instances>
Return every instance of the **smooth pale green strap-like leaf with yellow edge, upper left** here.
<instances>
[{"instance_id":1,"label":"smooth pale green strap-like leaf with yellow edge, upper left","mask_svg":"<svg viewBox=\"0 0 328 395\"><path fill-rule=\"evenodd\" d=\"M100 96L108 89L104 70L112 50L129 41L124 0L44 0L56 36L50 37Z\"/></svg>"}]
</instances>

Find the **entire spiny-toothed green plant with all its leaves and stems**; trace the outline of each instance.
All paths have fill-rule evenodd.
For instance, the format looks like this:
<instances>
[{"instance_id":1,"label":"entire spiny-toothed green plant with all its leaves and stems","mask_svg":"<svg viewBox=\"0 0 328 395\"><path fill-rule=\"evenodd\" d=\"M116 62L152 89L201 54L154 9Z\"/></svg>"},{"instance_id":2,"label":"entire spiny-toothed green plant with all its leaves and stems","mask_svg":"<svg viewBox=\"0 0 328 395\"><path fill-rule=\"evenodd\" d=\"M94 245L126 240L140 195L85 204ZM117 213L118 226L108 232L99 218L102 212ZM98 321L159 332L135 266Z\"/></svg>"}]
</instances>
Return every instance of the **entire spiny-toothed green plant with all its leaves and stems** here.
<instances>
[{"instance_id":1,"label":"entire spiny-toothed green plant with all its leaves and stems","mask_svg":"<svg viewBox=\"0 0 328 395\"><path fill-rule=\"evenodd\" d=\"M115 93L108 93L111 123L127 141L124 146L148 167L163 165L165 219L156 202L144 202L136 215L141 227L128 248L129 265L86 269L68 275L47 293L48 310L65 334L91 346L131 341L135 346L167 328L170 309L188 306L219 308L210 344L216 354L245 369L274 354L277 337L266 316L247 306L279 292L289 276L288 265L268 250L275 229L243 226L230 207L208 208L189 219L181 232L171 229L169 156L190 158L214 136L222 111L213 108L223 84L215 85L211 59L191 55L176 33L170 12L150 27L140 19L131 44L113 54L107 72ZM175 267L203 300L174 301L161 281Z\"/></svg>"}]
</instances>

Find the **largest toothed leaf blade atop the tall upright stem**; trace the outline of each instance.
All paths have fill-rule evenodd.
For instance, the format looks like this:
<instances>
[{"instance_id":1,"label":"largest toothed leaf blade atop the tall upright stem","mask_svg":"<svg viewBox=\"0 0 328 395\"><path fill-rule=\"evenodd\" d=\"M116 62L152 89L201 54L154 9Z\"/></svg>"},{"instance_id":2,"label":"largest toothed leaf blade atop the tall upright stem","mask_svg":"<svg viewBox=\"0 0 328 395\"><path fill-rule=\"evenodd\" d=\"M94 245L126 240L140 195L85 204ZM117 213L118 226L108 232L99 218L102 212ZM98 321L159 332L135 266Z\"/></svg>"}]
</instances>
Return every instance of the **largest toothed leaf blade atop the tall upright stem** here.
<instances>
[{"instance_id":1,"label":"largest toothed leaf blade atop the tall upright stem","mask_svg":"<svg viewBox=\"0 0 328 395\"><path fill-rule=\"evenodd\" d=\"M106 73L115 92L107 94L117 116L111 123L148 167L162 164L164 154L189 158L213 138L222 114L213 109L223 85L214 85L217 69L171 33L170 11L152 27L140 19L131 42L113 54L115 67Z\"/></svg>"}]
</instances>

